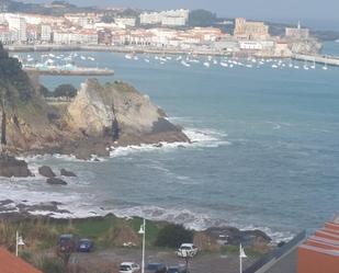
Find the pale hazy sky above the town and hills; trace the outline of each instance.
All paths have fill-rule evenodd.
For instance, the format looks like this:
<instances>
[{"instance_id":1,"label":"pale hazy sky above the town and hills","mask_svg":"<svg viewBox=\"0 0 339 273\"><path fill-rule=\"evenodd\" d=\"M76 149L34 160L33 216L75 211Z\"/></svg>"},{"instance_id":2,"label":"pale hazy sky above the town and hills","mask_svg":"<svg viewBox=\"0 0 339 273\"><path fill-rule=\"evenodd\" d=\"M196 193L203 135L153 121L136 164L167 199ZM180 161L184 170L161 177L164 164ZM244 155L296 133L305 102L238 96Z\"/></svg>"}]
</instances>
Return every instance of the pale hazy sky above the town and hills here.
<instances>
[{"instance_id":1,"label":"pale hazy sky above the town and hills","mask_svg":"<svg viewBox=\"0 0 339 273\"><path fill-rule=\"evenodd\" d=\"M46 2L25 0L26 2ZM52 0L50 0L52 1ZM50 2L47 0L47 2ZM294 22L301 19L319 27L339 31L339 0L69 0L79 5L132 7L142 9L207 9L219 16L246 16Z\"/></svg>"}]
</instances>

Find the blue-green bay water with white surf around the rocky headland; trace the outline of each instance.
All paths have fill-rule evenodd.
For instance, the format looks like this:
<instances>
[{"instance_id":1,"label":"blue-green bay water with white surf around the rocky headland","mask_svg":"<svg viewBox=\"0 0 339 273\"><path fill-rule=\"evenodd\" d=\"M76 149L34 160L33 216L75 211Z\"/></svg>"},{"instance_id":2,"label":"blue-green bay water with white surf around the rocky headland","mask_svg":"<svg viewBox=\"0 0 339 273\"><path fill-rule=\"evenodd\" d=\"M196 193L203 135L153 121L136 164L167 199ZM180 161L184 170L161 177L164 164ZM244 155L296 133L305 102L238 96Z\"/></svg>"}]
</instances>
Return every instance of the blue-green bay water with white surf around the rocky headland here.
<instances>
[{"instance_id":1,"label":"blue-green bay water with white surf around the rocky headland","mask_svg":"<svg viewBox=\"0 0 339 273\"><path fill-rule=\"evenodd\" d=\"M339 55L339 43L327 48ZM121 148L100 162L27 158L35 172L48 164L79 178L68 179L65 187L52 187L38 175L1 179L0 200L59 201L69 217L113 212L196 229L260 228L276 240L312 231L339 212L339 68L304 70L298 64L301 69L293 69L289 61L281 69L272 64L225 68L212 61L210 68L189 68L176 59L161 65L155 56L146 62L144 56L80 55L95 61L78 58L79 65L115 70L101 81L124 80L147 93L193 144ZM50 89L83 80L42 77Z\"/></svg>"}]
</instances>

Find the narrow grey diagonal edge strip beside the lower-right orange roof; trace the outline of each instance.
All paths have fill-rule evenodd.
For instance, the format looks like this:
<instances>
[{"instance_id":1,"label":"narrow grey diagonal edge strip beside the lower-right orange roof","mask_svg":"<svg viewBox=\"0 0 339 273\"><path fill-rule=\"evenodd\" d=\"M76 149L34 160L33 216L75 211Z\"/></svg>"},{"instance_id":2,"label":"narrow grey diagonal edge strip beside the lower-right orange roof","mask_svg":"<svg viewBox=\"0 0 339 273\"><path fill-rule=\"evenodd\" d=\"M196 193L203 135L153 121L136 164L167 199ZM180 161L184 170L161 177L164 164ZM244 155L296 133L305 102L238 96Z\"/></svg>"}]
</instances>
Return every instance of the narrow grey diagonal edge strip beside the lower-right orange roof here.
<instances>
[{"instance_id":1,"label":"narrow grey diagonal edge strip beside the lower-right orange roof","mask_svg":"<svg viewBox=\"0 0 339 273\"><path fill-rule=\"evenodd\" d=\"M300 232L296 237L294 237L291 241L286 242L282 247L273 250L272 252L265 254L263 258L258 260L256 263L247 268L242 273L256 273L263 265L271 262L272 260L278 260L285 253L287 253L291 249L293 249L296 244L303 241L306 238L306 230Z\"/></svg>"}]
</instances>

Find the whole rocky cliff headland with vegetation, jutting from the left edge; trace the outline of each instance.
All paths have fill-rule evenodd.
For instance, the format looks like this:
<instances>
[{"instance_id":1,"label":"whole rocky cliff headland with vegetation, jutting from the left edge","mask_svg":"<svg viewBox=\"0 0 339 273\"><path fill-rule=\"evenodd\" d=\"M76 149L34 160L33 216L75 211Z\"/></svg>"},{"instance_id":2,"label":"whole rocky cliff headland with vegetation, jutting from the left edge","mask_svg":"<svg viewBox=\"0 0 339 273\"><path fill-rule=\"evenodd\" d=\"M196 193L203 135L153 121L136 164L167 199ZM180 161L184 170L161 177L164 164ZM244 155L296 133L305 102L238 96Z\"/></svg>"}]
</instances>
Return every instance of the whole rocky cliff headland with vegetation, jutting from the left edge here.
<instances>
[{"instance_id":1,"label":"whole rocky cliff headland with vegetation, jutting from the left edge","mask_svg":"<svg viewBox=\"0 0 339 273\"><path fill-rule=\"evenodd\" d=\"M123 83L90 79L74 101L49 105L15 58L0 48L2 149L10 153L108 156L108 147L189 141L148 96Z\"/></svg>"}]
</instances>

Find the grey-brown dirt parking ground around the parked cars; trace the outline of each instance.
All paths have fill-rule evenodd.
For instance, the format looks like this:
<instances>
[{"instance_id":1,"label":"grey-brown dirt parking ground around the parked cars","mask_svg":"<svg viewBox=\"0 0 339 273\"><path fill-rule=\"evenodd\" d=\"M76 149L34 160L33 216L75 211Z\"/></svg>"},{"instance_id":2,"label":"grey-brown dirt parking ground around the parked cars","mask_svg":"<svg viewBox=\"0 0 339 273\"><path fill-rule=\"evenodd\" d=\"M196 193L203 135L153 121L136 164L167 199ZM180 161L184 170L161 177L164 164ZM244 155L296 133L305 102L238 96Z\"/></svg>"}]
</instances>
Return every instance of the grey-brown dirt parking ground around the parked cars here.
<instances>
[{"instance_id":1,"label":"grey-brown dirt parking ground around the parked cars","mask_svg":"<svg viewBox=\"0 0 339 273\"><path fill-rule=\"evenodd\" d=\"M98 272L98 268L106 271L110 266L112 272L117 272L121 262L136 262L142 264L140 249L114 249L105 251L94 251L92 253L75 253L71 255L69 263L79 264L86 268L88 272ZM184 264L185 261L176 255L173 251L146 250L145 263L162 262L167 266ZM244 259L242 266L246 269L255 262L255 259ZM221 255L215 253L199 253L189 261L191 273L238 273L238 255Z\"/></svg>"}]
</instances>

